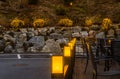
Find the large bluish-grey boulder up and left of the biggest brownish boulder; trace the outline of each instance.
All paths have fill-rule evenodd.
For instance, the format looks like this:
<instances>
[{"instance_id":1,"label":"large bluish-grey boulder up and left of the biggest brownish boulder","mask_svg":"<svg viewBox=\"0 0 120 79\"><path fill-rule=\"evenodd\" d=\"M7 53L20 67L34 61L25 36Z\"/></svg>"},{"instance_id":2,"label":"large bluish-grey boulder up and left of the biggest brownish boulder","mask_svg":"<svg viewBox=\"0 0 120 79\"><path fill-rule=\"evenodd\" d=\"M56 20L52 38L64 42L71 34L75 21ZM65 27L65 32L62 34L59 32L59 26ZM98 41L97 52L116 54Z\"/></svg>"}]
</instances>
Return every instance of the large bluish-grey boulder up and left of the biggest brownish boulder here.
<instances>
[{"instance_id":1,"label":"large bluish-grey boulder up and left of the biggest brownish boulder","mask_svg":"<svg viewBox=\"0 0 120 79\"><path fill-rule=\"evenodd\" d=\"M42 47L45 44L45 39L43 36L34 36L28 42L36 47Z\"/></svg>"}]
</instances>

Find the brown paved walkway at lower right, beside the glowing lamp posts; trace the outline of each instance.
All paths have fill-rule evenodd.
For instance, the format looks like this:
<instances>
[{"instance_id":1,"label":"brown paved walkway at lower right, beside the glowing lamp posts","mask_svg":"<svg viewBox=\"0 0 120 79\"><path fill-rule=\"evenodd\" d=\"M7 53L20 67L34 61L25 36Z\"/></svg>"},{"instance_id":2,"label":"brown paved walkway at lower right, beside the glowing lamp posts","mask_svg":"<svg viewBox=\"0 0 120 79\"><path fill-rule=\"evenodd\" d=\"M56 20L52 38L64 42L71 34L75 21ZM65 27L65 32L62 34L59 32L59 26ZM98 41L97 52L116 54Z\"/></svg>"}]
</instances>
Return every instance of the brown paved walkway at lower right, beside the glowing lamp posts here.
<instances>
[{"instance_id":1,"label":"brown paved walkway at lower right, beside the glowing lamp posts","mask_svg":"<svg viewBox=\"0 0 120 79\"><path fill-rule=\"evenodd\" d=\"M85 74L84 74L84 68L85 68L85 58L76 58L73 79L92 79L91 64L89 63L87 72ZM99 70L101 71L102 69L100 68ZM120 76L107 76L107 77L98 76L98 79L120 79Z\"/></svg>"}]
</instances>

